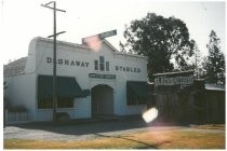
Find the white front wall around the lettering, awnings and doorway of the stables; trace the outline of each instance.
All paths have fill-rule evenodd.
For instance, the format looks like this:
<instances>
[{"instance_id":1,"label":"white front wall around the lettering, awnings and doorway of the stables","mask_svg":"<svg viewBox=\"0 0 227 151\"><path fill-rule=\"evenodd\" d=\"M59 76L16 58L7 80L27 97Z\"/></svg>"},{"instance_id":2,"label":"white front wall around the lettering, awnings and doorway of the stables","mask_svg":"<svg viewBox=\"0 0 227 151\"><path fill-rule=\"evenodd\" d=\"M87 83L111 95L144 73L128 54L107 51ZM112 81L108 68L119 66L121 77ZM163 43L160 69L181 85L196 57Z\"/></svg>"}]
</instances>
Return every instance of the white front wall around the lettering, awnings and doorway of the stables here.
<instances>
[{"instance_id":1,"label":"white front wall around the lettering, awnings and doorway of the stables","mask_svg":"<svg viewBox=\"0 0 227 151\"><path fill-rule=\"evenodd\" d=\"M37 42L37 73L52 74L53 65L46 63L46 56L52 57L52 44L50 41L41 39ZM94 70L94 60L98 60L99 56L104 56L105 61L109 61L109 71ZM75 77L83 90L91 90L98 84L112 87L115 114L139 114L146 109L146 106L126 105L126 81L147 81L147 60L145 57L115 52L105 42L98 52L77 44L58 42L57 58L89 63L88 67L57 65L57 76ZM116 70L116 66L139 68L141 72ZM89 73L115 74L116 79L91 79ZM78 107L76 109L77 118L83 116L86 112L91 113L91 99L84 102L77 100L76 107Z\"/></svg>"}]
</instances>

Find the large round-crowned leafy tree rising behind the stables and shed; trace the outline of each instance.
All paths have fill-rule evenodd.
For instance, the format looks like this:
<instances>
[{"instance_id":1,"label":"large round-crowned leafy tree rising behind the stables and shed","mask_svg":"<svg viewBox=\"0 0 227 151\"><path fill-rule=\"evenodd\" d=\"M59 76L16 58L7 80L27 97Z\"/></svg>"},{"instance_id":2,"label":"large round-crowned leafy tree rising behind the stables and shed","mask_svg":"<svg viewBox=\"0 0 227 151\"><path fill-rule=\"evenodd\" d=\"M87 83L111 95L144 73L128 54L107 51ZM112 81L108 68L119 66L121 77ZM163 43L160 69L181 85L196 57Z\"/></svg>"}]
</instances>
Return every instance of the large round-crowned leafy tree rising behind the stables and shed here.
<instances>
[{"instance_id":1,"label":"large round-crowned leafy tree rising behind the stables and shed","mask_svg":"<svg viewBox=\"0 0 227 151\"><path fill-rule=\"evenodd\" d=\"M121 51L148 57L148 78L157 72L186 70L191 68L195 41L189 40L186 24L175 17L164 18L148 13L142 19L131 22L120 42Z\"/></svg>"}]
</instances>

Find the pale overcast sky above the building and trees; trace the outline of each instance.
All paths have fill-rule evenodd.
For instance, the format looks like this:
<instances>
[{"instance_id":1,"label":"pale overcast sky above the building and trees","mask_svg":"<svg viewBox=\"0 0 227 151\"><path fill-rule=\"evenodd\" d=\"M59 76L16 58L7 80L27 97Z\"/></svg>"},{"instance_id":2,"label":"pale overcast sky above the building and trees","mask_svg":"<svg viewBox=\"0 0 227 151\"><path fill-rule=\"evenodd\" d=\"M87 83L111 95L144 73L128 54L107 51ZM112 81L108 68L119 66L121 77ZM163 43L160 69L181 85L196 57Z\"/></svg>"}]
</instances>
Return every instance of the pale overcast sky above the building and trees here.
<instances>
[{"instance_id":1,"label":"pale overcast sky above the building and trees","mask_svg":"<svg viewBox=\"0 0 227 151\"><path fill-rule=\"evenodd\" d=\"M32 38L53 33L53 13L40 6L46 2L1 0L3 64L27 56ZM164 17L175 16L185 22L190 39L196 40L203 55L208 54L205 45L213 29L221 38L221 46L225 52L225 1L56 0L56 6L67 11L57 12L57 31L66 31L57 40L81 43L83 37L117 29L118 35L107 40L119 50L124 25L150 12Z\"/></svg>"}]
</instances>

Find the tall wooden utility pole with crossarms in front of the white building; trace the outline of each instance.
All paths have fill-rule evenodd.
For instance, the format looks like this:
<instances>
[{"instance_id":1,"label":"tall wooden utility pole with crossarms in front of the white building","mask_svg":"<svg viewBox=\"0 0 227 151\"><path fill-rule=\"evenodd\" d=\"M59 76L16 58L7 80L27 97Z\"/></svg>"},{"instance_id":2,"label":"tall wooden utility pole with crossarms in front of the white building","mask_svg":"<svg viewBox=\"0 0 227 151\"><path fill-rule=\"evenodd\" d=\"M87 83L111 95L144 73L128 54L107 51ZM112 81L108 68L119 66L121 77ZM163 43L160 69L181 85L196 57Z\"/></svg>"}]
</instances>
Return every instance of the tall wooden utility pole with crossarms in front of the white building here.
<instances>
[{"instance_id":1,"label":"tall wooden utility pole with crossarms in front of the white building","mask_svg":"<svg viewBox=\"0 0 227 151\"><path fill-rule=\"evenodd\" d=\"M49 6L49 4L51 4L51 3L53 3L53 8ZM57 105L57 96L56 96L56 82L57 82L56 81L56 36L65 32L65 31L63 31L63 32L56 33L56 11L64 12L64 13L66 11L56 9L55 1L51 1L49 3L41 4L41 6L52 9L53 13L54 13L54 27L53 27L54 33L53 33L53 36L50 36L50 37L54 37L54 42L53 42L53 121L55 122L56 121L56 105Z\"/></svg>"}]
</instances>

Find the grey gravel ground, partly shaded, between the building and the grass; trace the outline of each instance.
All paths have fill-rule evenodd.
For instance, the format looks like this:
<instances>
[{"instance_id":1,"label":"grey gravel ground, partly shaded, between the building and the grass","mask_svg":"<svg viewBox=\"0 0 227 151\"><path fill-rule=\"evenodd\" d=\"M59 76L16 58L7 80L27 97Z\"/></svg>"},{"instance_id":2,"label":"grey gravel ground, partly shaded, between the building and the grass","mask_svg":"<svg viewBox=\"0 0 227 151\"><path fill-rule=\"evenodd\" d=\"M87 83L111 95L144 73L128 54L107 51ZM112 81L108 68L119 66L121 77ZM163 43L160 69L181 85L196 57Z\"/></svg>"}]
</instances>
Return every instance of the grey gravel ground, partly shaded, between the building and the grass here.
<instances>
[{"instance_id":1,"label":"grey gravel ground, partly shaded, between the building and the grass","mask_svg":"<svg viewBox=\"0 0 227 151\"><path fill-rule=\"evenodd\" d=\"M210 133L223 133L218 129L196 129L187 126L153 126L147 125L142 119L120 119L108 121L86 121L68 124L53 123L30 123L6 126L4 128L4 139L36 139L54 141L88 140L108 136L126 135L132 133L146 132L149 128L156 129L182 129L182 131L204 131Z\"/></svg>"}]
</instances>

